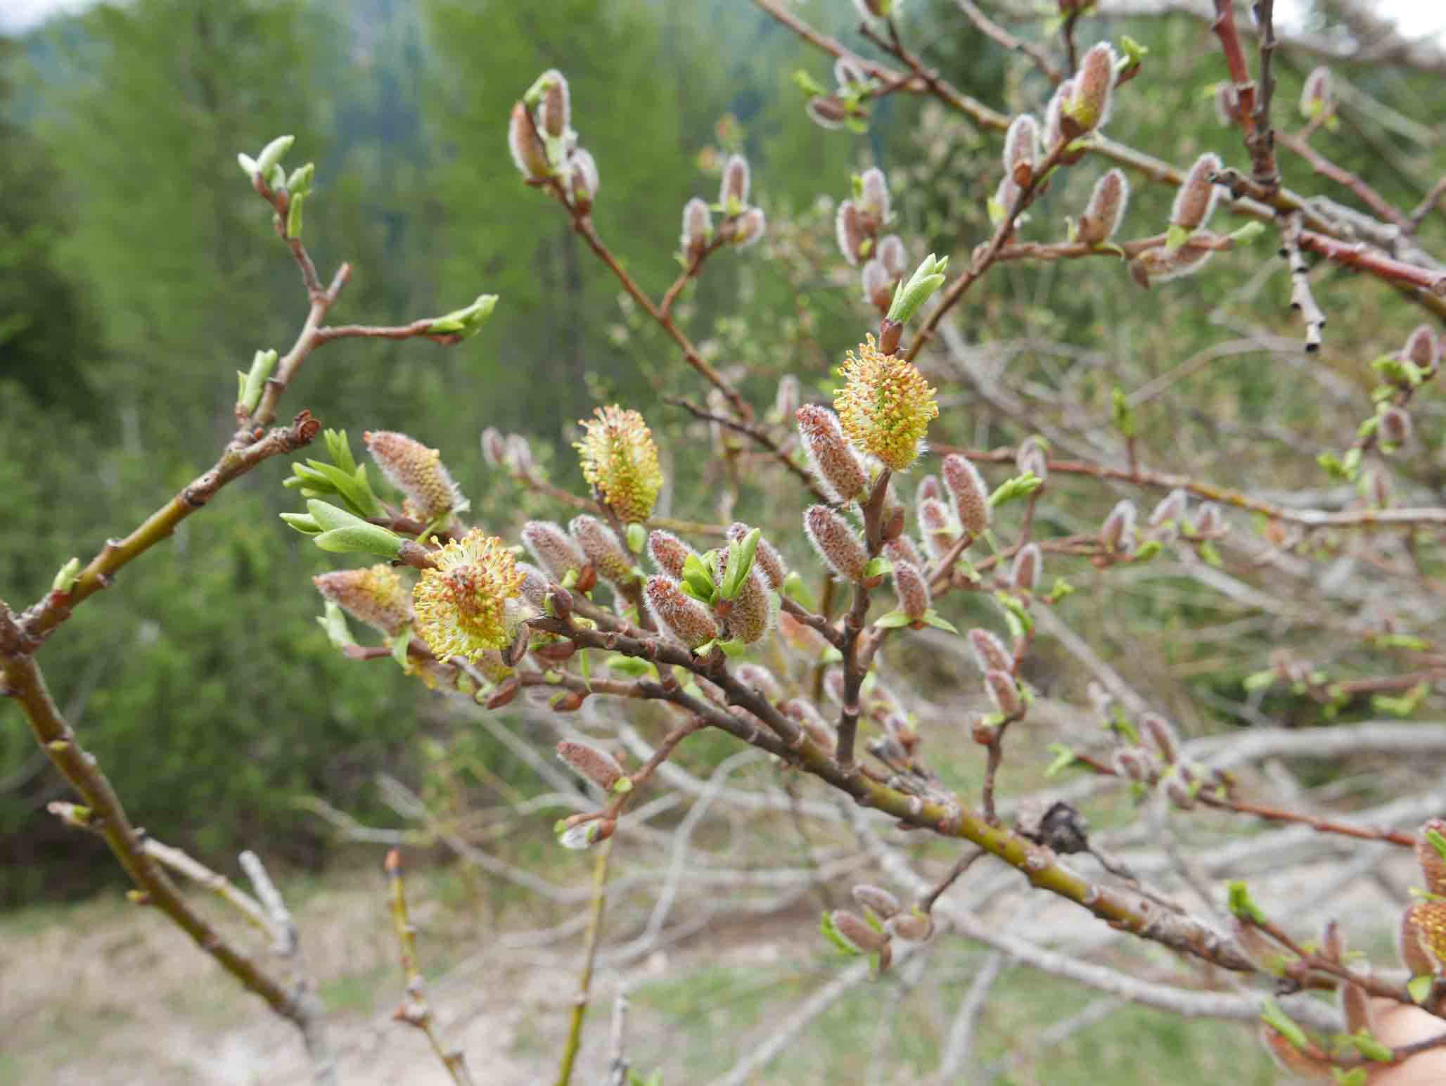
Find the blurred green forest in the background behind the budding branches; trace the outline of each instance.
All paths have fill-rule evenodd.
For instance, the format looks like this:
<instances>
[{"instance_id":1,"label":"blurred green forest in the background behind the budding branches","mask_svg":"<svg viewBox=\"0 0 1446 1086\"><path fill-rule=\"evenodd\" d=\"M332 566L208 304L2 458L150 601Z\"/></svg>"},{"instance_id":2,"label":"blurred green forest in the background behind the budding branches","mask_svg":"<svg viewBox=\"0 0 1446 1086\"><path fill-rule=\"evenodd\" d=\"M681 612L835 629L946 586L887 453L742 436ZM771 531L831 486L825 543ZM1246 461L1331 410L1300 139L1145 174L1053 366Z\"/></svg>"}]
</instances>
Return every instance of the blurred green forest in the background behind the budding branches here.
<instances>
[{"instance_id":1,"label":"blurred green forest in the background behind the budding branches","mask_svg":"<svg viewBox=\"0 0 1446 1086\"><path fill-rule=\"evenodd\" d=\"M831 33L855 23L847 0L797 10ZM927 42L930 64L996 108L1040 110L1047 97L1038 74L973 33L950 1L911 3L907 30ZM1111 134L1176 163L1229 146L1239 163L1207 101L1222 72L1205 25L1090 20L1083 36L1126 32L1151 55ZM759 405L784 372L808 388L826 379L869 327L820 197L840 198L850 172L882 165L911 256L963 262L988 236L998 179L995 136L917 100L888 98L868 134L811 124L792 74L827 81L824 61L743 0L136 0L3 48L0 597L16 610L67 558L88 558L208 467L234 425L231 373L257 349L285 351L301 327L305 292L236 168L239 150L278 133L296 136L292 163L317 163L307 239L322 278L341 260L354 266L334 321L399 324L483 291L502 296L489 327L457 347L324 347L283 414L309 408L354 445L366 428L437 445L495 531L562 510L489 477L483 427L531 435L554 482L580 489L567 447L580 415L617 399L681 441L685 419L658 402L655 382L704 392L671 344L619 305L565 215L518 176L508 111L539 71L568 74L574 126L602 174L599 231L654 294L677 270L684 201L711 198L723 152L749 155L771 237L714 260L683 314L716 364L742 367ZM1280 101L1293 104L1307 65L1283 55ZM1446 101L1430 75L1352 78L1440 132ZM1332 152L1413 205L1442 172L1439 146L1365 134L1342 133ZM1076 208L1098 171L1086 174L1057 185L1041 218ZM1145 189L1131 214L1163 221L1168 201L1167 189ZM1439 241L1434 224L1424 240ZM962 318L972 340L1090 341L1163 370L1219 334L1207 311L1232 283L1223 263L1174 295L1142 295L1119 269L1011 265ZM1285 321L1283 279L1275 288L1261 312ZM1345 275L1323 276L1317 296L1346 318L1333 320L1342 354L1374 356L1378 338L1416 317ZM1242 356L1210 370L1199 409L1265 411L1281 379ZM1004 435L946 411L937 437ZM1278 453L1303 470L1301 451ZM706 513L709 466L680 454L672 471L674 512ZM269 463L228 487L78 609L40 661L134 821L201 855L265 842L275 856L321 865L327 836L295 800L376 814L373 772L415 778L418 739L441 724L418 684L348 664L312 622L308 578L330 564L276 519L295 506L283 474ZM739 513L762 516L761 503L745 493ZM487 758L493 772L525 777L505 751ZM19 713L0 709L0 904L120 878L98 840L45 814L64 795Z\"/></svg>"}]
</instances>

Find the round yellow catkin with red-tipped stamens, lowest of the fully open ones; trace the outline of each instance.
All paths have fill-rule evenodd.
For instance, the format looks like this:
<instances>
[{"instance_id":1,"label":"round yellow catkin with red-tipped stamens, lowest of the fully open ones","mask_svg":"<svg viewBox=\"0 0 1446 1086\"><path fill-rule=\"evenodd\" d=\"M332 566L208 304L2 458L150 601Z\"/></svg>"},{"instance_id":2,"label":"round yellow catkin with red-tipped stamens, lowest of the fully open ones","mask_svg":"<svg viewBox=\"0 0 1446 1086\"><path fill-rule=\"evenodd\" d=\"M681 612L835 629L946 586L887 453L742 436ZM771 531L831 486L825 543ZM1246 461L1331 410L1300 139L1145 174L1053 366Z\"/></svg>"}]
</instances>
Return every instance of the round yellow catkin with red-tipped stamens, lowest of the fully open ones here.
<instances>
[{"instance_id":1,"label":"round yellow catkin with red-tipped stamens, lowest of the fully open ones","mask_svg":"<svg viewBox=\"0 0 1446 1086\"><path fill-rule=\"evenodd\" d=\"M522 617L523 574L508 545L474 528L432 557L412 589L416 632L437 659L474 659L509 645Z\"/></svg>"}]
</instances>

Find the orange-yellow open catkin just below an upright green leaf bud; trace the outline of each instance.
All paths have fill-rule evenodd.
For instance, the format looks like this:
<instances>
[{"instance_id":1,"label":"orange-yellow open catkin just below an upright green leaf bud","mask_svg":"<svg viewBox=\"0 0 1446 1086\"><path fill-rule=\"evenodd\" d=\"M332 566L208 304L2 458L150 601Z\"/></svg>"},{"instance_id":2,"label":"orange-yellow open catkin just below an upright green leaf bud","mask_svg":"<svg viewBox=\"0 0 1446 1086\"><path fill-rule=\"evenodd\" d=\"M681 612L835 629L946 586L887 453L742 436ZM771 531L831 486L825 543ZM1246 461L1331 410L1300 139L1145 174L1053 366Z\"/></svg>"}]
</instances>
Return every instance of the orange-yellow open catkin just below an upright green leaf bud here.
<instances>
[{"instance_id":1,"label":"orange-yellow open catkin just below an upright green leaf bud","mask_svg":"<svg viewBox=\"0 0 1446 1086\"><path fill-rule=\"evenodd\" d=\"M873 337L849 351L844 386L833 401L849 440L894 471L907 471L923 451L930 421L938 418L934 389L914 363L884 354Z\"/></svg>"}]
</instances>

